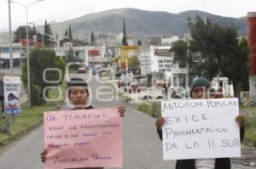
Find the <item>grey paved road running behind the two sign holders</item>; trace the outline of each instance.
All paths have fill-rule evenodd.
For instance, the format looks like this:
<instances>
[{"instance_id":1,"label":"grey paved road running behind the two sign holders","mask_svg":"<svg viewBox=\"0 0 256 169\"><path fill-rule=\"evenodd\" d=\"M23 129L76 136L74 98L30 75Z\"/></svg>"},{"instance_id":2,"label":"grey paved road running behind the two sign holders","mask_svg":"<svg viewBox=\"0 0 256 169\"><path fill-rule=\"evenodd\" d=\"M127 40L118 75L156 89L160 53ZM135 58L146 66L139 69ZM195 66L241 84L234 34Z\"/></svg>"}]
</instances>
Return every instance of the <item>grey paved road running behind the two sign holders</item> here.
<instances>
[{"instance_id":1,"label":"grey paved road running behind the two sign holders","mask_svg":"<svg viewBox=\"0 0 256 169\"><path fill-rule=\"evenodd\" d=\"M113 93L102 96L100 92L111 92L107 84L101 84L92 80L91 91L98 93L101 99L113 98ZM99 88L105 87L105 88ZM120 102L112 100L99 102L96 94L92 98L92 104L96 108L114 107ZM157 138L154 129L154 119L135 110L129 105L124 122L124 169L173 169L175 161L163 161L161 142ZM61 110L68 110L66 104L62 104ZM9 149L0 152L0 169L41 169L44 165L40 161L40 153L43 149L44 129L39 127L30 132L19 142L11 144Z\"/></svg>"}]
</instances>

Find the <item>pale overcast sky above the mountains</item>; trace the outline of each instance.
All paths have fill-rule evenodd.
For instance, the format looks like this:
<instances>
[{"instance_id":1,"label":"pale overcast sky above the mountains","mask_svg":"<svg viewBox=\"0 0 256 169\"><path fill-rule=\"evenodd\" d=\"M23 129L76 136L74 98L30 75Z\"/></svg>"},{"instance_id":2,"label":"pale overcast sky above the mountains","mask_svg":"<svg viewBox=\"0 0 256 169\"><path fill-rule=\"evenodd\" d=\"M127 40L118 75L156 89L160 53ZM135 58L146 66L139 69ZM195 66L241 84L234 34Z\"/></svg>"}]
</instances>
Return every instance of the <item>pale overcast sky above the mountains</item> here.
<instances>
[{"instance_id":1,"label":"pale overcast sky above the mountains","mask_svg":"<svg viewBox=\"0 0 256 169\"><path fill-rule=\"evenodd\" d=\"M11 0L28 5L36 0ZM55 20L71 20L84 14L96 13L112 8L140 8L150 11L166 11L177 14L185 10L201 10L208 13L239 18L248 11L256 12L256 0L44 0L28 9L28 22L43 25ZM26 25L26 8L11 3L13 30ZM9 29L8 0L0 0L0 31Z\"/></svg>"}]
</instances>

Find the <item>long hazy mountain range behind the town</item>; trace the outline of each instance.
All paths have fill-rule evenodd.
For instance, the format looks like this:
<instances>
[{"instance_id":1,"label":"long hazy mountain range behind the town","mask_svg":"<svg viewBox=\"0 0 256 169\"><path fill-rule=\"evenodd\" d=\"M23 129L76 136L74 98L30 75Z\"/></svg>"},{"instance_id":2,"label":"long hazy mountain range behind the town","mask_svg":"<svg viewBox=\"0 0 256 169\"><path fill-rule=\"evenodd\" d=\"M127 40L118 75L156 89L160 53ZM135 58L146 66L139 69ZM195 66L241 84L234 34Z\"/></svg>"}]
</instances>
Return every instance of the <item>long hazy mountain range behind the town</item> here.
<instances>
[{"instance_id":1,"label":"long hazy mountain range behind the town","mask_svg":"<svg viewBox=\"0 0 256 169\"><path fill-rule=\"evenodd\" d=\"M90 32L99 34L116 35L123 32L123 20L125 19L126 33L136 39L143 37L170 37L172 35L182 36L188 31L186 22L188 17L193 21L199 15L202 19L206 16L222 26L235 25L241 36L247 34L246 17L230 18L216 14L209 14L198 10L184 11L179 14L171 14L161 11L147 11L137 8L117 8L99 13L86 14L73 20L51 24L52 30L58 32L60 37L64 36L70 24L73 37L89 41ZM38 28L43 30L42 27ZM1 39L0 34L0 39Z\"/></svg>"}]
</instances>

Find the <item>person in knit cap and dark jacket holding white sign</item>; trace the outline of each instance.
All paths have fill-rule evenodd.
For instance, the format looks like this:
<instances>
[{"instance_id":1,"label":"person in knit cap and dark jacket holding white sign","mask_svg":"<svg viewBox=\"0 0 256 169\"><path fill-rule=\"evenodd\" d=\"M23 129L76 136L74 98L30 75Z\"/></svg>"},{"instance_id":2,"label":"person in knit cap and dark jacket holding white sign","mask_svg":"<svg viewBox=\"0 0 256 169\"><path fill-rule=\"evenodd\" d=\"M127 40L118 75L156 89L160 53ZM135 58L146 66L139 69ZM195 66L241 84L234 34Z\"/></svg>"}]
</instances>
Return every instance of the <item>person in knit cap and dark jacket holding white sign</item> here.
<instances>
[{"instance_id":1,"label":"person in knit cap and dark jacket holding white sign","mask_svg":"<svg viewBox=\"0 0 256 169\"><path fill-rule=\"evenodd\" d=\"M205 78L198 78L190 85L191 99L210 99L209 89L210 82ZM240 140L244 137L244 124L245 120L241 115L236 116L236 122L240 127ZM155 126L162 139L162 127L166 123L164 117L159 117L155 121ZM176 169L230 169L230 158L216 158L216 159L188 159L177 160Z\"/></svg>"}]
</instances>

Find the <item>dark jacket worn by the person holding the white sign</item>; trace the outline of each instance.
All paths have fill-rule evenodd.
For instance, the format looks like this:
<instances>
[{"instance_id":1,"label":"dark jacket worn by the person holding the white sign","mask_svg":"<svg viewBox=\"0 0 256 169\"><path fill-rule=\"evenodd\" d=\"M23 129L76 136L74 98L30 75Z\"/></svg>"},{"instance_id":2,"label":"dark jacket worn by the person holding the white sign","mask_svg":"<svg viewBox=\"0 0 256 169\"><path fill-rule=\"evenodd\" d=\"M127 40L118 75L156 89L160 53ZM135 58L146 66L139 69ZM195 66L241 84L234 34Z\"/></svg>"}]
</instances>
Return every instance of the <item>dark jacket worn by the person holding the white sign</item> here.
<instances>
[{"instance_id":1,"label":"dark jacket worn by the person holding the white sign","mask_svg":"<svg viewBox=\"0 0 256 169\"><path fill-rule=\"evenodd\" d=\"M159 138L162 140L162 130L157 130ZM244 137L244 127L240 128L240 140ZM215 159L215 169L230 169L230 158ZM176 169L195 169L195 159L177 160Z\"/></svg>"}]
</instances>

